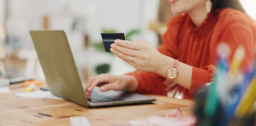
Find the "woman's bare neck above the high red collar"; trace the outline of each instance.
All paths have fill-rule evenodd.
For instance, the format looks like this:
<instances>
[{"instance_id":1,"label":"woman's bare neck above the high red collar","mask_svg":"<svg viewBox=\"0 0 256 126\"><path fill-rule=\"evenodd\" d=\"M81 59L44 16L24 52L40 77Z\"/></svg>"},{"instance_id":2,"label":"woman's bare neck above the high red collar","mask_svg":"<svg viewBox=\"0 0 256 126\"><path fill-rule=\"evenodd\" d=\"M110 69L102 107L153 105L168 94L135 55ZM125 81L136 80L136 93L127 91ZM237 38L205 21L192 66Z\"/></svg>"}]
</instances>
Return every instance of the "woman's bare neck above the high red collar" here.
<instances>
[{"instance_id":1,"label":"woman's bare neck above the high red collar","mask_svg":"<svg viewBox=\"0 0 256 126\"><path fill-rule=\"evenodd\" d=\"M195 9L188 13L195 27L200 26L207 17L208 12L205 7Z\"/></svg>"}]
</instances>

